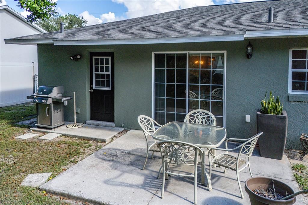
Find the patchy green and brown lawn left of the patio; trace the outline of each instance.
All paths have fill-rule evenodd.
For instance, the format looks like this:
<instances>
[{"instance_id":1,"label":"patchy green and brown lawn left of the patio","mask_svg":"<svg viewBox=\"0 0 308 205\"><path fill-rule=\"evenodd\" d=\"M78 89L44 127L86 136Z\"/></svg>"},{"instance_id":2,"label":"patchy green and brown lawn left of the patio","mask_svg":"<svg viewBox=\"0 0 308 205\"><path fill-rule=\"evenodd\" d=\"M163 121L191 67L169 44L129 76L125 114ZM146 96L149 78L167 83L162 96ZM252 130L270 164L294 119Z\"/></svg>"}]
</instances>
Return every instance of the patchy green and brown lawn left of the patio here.
<instances>
[{"instance_id":1,"label":"patchy green and brown lawn left of the patio","mask_svg":"<svg viewBox=\"0 0 308 205\"><path fill-rule=\"evenodd\" d=\"M51 177L55 177L105 145L69 137L52 141L15 139L29 127L14 123L34 115L36 109L31 103L0 109L0 204L65 204L38 188L22 187L20 183L33 173L52 172Z\"/></svg>"}]
</instances>

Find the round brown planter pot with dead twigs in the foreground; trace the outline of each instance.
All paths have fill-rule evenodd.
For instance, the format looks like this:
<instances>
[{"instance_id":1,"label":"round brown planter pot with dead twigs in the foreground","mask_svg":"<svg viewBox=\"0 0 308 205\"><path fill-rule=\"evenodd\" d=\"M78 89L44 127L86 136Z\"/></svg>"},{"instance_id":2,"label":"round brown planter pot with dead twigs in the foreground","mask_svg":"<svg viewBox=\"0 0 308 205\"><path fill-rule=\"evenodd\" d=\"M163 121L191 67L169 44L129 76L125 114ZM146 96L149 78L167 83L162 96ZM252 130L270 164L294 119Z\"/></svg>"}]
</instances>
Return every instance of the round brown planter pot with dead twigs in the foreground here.
<instances>
[{"instance_id":1,"label":"round brown planter pot with dead twigs in the foreground","mask_svg":"<svg viewBox=\"0 0 308 205\"><path fill-rule=\"evenodd\" d=\"M276 193L281 194L282 196L286 196L286 192L289 195L294 194L293 189L287 184L278 181L276 179L272 179L269 177L252 177L246 180L245 182L245 191L249 195L250 204L251 205L291 205L296 202L296 197L287 200L274 200L265 198L263 196L257 195L253 192L257 187L262 186L265 190L268 188L273 189L273 183L275 187Z\"/></svg>"}]
</instances>

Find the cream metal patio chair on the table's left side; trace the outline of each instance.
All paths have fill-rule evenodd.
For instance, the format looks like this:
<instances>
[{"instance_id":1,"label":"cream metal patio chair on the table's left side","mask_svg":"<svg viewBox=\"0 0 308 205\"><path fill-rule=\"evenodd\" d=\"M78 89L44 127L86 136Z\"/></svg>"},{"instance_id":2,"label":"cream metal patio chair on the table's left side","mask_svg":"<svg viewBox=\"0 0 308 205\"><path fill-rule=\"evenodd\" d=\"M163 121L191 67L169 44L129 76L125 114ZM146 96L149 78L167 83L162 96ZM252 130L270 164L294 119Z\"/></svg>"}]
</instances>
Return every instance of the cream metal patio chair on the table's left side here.
<instances>
[{"instance_id":1,"label":"cream metal patio chair on the table's left side","mask_svg":"<svg viewBox=\"0 0 308 205\"><path fill-rule=\"evenodd\" d=\"M161 125L158 124L155 120L153 120L152 118L150 118L146 115L140 115L138 117L138 123L143 130L145 140L147 142L147 157L145 158L144 166L142 168L142 170L144 170L145 164L147 163L147 160L148 160L149 151L152 151L152 159L153 159L154 152L159 152L159 148L157 147L156 139L155 139L154 143L149 145L148 136L151 136L156 131L155 125L157 125L159 127L161 127Z\"/></svg>"}]
</instances>

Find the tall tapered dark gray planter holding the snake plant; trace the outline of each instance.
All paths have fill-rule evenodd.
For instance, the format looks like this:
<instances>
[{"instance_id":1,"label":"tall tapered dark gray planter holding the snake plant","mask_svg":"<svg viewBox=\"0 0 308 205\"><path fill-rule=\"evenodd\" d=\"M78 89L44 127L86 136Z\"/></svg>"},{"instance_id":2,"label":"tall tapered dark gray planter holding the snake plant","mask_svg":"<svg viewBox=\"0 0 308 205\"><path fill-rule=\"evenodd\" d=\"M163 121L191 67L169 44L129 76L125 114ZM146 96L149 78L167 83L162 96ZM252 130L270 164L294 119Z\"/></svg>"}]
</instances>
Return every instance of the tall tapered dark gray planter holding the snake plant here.
<instances>
[{"instance_id":1,"label":"tall tapered dark gray planter holding the snake plant","mask_svg":"<svg viewBox=\"0 0 308 205\"><path fill-rule=\"evenodd\" d=\"M261 157L282 159L286 147L288 116L286 111L282 115L262 114L257 111L257 133L259 137Z\"/></svg>"}]
</instances>

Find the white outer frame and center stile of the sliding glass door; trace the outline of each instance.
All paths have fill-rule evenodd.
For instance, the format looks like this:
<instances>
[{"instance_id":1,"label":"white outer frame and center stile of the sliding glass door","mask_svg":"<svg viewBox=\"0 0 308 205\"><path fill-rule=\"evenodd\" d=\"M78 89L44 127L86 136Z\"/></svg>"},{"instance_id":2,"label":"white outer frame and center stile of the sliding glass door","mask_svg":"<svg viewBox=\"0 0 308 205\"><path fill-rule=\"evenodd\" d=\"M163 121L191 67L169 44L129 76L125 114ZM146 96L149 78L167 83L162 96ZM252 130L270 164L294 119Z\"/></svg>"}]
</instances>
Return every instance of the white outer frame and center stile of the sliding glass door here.
<instances>
[{"instance_id":1,"label":"white outer frame and center stile of the sliding glass door","mask_svg":"<svg viewBox=\"0 0 308 205\"><path fill-rule=\"evenodd\" d=\"M213 51L155 51L152 52L152 118L155 119L155 66L154 66L154 54L168 54L168 53L186 53L187 60L186 60L186 90L188 90L188 54L189 53L199 53L199 54L206 54L206 53L223 53L224 54L224 85L223 85L223 127L226 126L226 62L227 62L227 51L226 50L213 50ZM187 92L186 95L189 95ZM187 98L187 96L186 96ZM187 98L188 99L188 98ZM188 102L188 100L186 101ZM188 105L186 104L186 112L188 112Z\"/></svg>"}]
</instances>

